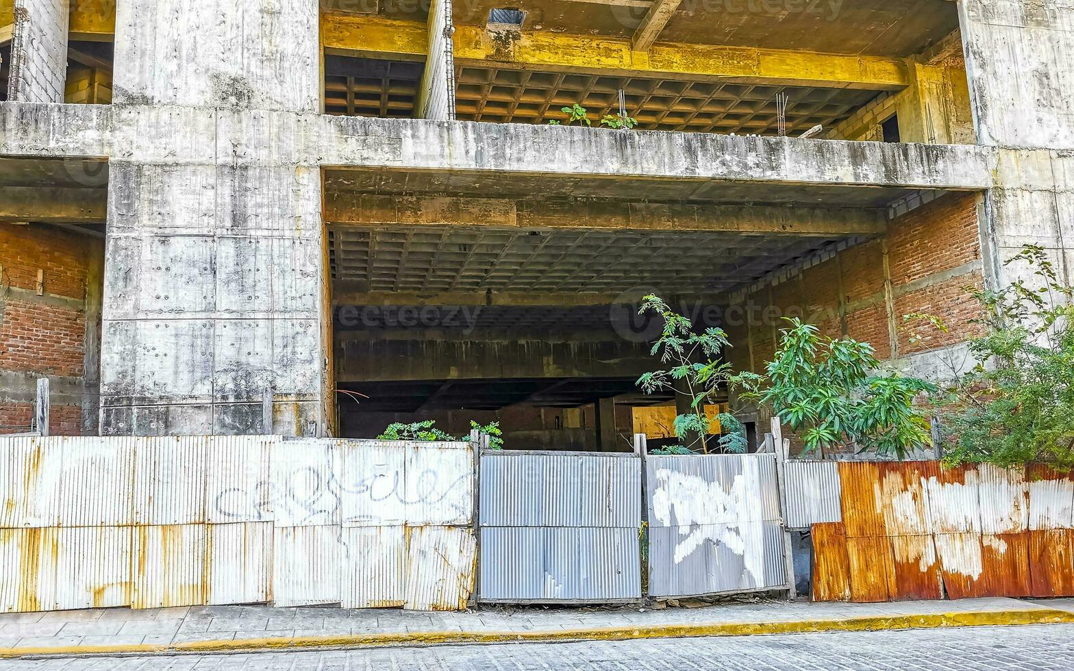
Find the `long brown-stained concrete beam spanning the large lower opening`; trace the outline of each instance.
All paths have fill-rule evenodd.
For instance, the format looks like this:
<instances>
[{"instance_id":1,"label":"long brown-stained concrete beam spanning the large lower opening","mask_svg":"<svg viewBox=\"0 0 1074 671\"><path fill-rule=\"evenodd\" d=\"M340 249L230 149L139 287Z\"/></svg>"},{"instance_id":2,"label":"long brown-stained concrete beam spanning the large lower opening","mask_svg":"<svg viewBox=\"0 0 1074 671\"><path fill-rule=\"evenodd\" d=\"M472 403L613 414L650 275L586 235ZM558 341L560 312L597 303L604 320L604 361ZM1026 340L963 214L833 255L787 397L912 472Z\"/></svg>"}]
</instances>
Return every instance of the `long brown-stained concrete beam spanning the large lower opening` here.
<instances>
[{"instance_id":1,"label":"long brown-stained concrete beam spanning the large lower opening","mask_svg":"<svg viewBox=\"0 0 1074 671\"><path fill-rule=\"evenodd\" d=\"M547 201L329 193L324 220L333 224L519 227L711 231L795 236L883 235L880 209L826 209L763 205L693 205L603 201Z\"/></svg>"}]
</instances>

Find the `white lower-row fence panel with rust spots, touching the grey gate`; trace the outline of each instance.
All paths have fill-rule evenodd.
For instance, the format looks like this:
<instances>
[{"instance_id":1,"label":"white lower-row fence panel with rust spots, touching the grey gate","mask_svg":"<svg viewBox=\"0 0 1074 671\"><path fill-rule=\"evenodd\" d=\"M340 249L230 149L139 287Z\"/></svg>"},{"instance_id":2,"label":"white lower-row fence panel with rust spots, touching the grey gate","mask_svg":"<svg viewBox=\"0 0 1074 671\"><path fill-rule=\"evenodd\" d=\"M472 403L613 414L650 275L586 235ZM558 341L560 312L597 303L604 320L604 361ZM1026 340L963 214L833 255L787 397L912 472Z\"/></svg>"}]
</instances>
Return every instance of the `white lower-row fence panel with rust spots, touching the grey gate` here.
<instances>
[{"instance_id":1,"label":"white lower-row fence panel with rust spots, touching the grey gate","mask_svg":"<svg viewBox=\"0 0 1074 671\"><path fill-rule=\"evenodd\" d=\"M407 529L406 602L417 611L466 609L474 590L477 539L473 530L453 526Z\"/></svg>"}]
</instances>

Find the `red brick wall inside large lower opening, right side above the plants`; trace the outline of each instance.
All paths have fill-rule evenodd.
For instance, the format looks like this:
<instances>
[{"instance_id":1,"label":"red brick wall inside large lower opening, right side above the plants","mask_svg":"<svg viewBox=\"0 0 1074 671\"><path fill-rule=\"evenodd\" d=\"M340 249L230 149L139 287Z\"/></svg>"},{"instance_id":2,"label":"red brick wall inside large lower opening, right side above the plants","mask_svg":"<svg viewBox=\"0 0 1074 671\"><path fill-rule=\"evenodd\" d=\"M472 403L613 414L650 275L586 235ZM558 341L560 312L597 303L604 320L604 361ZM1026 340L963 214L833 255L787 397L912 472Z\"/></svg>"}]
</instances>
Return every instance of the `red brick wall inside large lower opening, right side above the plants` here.
<instances>
[{"instance_id":1,"label":"red brick wall inside large lower opening, right side above the plants","mask_svg":"<svg viewBox=\"0 0 1074 671\"><path fill-rule=\"evenodd\" d=\"M892 319L899 356L962 342L973 334L969 322L978 315L967 287L979 288L984 281L979 269L967 268L981 260L976 202L973 193L944 195L891 221L885 238L803 269L772 287L770 300L766 291L753 293L751 300L771 303L781 313L797 307L826 335L868 341L881 359L894 353ZM885 295L885 249L891 310ZM940 317L949 332L921 325L916 331L924 337L911 344L902 317L915 312ZM759 369L772 354L771 325L754 324L750 336L754 368ZM741 337L732 345L746 347Z\"/></svg>"}]
</instances>

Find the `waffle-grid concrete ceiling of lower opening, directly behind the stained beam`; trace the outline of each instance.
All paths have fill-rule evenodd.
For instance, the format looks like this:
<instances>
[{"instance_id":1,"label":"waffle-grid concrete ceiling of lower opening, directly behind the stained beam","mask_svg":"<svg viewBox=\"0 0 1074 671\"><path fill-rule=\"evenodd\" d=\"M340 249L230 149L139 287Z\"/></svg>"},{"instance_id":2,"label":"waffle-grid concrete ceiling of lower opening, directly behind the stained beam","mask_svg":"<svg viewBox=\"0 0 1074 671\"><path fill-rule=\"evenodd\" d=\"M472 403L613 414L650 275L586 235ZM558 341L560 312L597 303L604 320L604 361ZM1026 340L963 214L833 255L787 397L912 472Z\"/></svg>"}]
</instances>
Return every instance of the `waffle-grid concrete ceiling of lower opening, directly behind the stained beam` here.
<instances>
[{"instance_id":1,"label":"waffle-grid concrete ceiling of lower opening, directly behind the stained beam","mask_svg":"<svg viewBox=\"0 0 1074 671\"><path fill-rule=\"evenodd\" d=\"M794 235L334 227L332 279L363 292L715 294L840 242Z\"/></svg>"}]
</instances>

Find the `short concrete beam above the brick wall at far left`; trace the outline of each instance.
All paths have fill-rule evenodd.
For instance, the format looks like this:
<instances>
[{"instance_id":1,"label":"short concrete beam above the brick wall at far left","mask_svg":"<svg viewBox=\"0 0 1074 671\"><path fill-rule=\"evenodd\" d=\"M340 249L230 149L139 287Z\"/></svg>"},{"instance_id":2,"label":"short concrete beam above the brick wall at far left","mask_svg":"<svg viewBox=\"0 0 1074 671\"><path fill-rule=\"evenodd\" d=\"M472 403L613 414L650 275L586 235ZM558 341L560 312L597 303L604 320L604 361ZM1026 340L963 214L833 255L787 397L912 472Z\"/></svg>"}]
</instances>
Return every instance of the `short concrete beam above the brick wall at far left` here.
<instances>
[{"instance_id":1,"label":"short concrete beam above the brick wall at far left","mask_svg":"<svg viewBox=\"0 0 1074 671\"><path fill-rule=\"evenodd\" d=\"M0 221L104 223L105 189L4 187L0 189Z\"/></svg>"}]
</instances>

